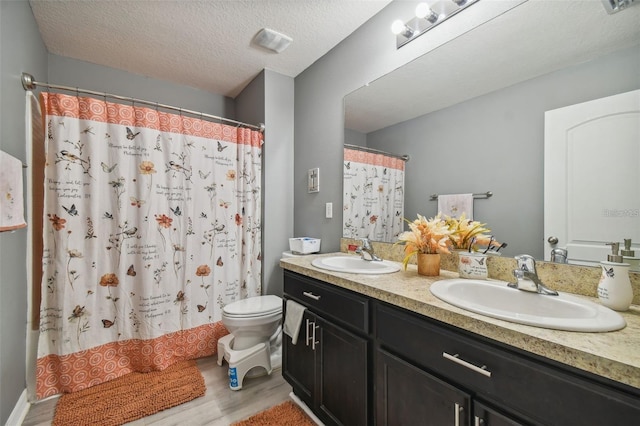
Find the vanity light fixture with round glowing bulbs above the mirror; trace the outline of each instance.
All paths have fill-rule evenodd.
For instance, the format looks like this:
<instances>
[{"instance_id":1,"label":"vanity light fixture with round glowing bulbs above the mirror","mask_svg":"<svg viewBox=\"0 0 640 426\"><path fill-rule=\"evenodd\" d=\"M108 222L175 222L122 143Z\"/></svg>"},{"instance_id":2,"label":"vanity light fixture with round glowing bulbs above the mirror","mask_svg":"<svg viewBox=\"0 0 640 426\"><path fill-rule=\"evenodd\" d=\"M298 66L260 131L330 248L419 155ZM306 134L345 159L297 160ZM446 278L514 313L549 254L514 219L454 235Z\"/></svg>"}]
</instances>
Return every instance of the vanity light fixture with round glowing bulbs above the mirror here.
<instances>
[{"instance_id":1,"label":"vanity light fixture with round glowing bulbs above the mirror","mask_svg":"<svg viewBox=\"0 0 640 426\"><path fill-rule=\"evenodd\" d=\"M404 23L398 19L391 25L399 49L480 0L430 0L418 4L415 18Z\"/></svg>"}]
</instances>

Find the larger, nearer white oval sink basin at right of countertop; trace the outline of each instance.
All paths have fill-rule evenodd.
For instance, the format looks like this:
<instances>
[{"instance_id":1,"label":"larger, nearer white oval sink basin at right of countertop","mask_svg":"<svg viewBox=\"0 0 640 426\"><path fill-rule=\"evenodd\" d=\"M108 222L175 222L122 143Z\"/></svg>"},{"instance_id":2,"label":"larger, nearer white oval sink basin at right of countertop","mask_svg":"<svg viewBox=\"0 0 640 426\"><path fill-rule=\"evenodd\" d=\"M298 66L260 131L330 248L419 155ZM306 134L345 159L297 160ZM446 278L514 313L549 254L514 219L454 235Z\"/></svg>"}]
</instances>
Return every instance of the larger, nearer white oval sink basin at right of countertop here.
<instances>
[{"instance_id":1,"label":"larger, nearer white oval sink basin at right of countertop","mask_svg":"<svg viewBox=\"0 0 640 426\"><path fill-rule=\"evenodd\" d=\"M519 324L567 331L601 332L624 328L620 314L569 294L547 296L507 287L503 281L436 281L431 293L471 312Z\"/></svg>"}]
</instances>

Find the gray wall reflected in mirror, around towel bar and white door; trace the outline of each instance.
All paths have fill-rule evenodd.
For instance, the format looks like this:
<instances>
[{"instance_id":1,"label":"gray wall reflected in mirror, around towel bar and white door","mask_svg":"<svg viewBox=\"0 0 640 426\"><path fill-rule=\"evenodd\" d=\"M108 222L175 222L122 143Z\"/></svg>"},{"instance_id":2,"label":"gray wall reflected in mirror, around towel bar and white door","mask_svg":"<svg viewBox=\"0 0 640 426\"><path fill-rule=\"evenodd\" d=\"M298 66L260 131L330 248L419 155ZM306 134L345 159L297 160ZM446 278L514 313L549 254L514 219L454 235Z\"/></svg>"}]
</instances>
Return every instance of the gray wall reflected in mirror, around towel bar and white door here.
<instances>
[{"instance_id":1,"label":"gray wall reflected in mirror, around towel bar and white door","mask_svg":"<svg viewBox=\"0 0 640 426\"><path fill-rule=\"evenodd\" d=\"M544 112L640 88L640 48L498 90L367 135L367 146L409 154L405 215L436 215L429 194L492 191L474 202L510 256L544 258Z\"/></svg>"}]
</instances>

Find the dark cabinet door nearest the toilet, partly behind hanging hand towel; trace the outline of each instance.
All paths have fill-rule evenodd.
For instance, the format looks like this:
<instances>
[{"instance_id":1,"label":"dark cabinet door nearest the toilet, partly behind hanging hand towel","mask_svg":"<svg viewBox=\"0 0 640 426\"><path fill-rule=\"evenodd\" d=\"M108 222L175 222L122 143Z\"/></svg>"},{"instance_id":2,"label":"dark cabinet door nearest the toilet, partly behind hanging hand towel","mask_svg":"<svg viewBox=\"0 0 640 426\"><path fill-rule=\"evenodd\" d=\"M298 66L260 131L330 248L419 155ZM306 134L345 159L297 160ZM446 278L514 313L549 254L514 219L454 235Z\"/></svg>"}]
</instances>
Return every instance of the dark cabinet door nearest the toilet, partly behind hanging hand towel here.
<instances>
[{"instance_id":1,"label":"dark cabinet door nearest the toilet, partly behind hanging hand towel","mask_svg":"<svg viewBox=\"0 0 640 426\"><path fill-rule=\"evenodd\" d=\"M311 342L316 322L316 316L305 311L296 344L291 343L291 338L284 335L282 351L282 376L293 387L295 394L311 408L314 406L313 395L316 393L316 351Z\"/></svg>"}]
</instances>

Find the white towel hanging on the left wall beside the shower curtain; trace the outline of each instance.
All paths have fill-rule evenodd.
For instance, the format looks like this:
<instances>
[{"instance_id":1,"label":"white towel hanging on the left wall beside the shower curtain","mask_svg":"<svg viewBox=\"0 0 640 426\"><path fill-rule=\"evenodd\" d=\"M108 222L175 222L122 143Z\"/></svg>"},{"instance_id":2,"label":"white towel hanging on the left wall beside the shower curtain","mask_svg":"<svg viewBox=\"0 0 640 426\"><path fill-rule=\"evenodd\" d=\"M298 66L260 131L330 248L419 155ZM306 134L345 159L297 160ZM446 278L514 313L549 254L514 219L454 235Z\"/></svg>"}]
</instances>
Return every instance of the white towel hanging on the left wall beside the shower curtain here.
<instances>
[{"instance_id":1,"label":"white towel hanging on the left wall beside the shower curtain","mask_svg":"<svg viewBox=\"0 0 640 426\"><path fill-rule=\"evenodd\" d=\"M0 231L27 226L22 191L22 161L0 151Z\"/></svg>"}]
</instances>

